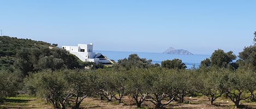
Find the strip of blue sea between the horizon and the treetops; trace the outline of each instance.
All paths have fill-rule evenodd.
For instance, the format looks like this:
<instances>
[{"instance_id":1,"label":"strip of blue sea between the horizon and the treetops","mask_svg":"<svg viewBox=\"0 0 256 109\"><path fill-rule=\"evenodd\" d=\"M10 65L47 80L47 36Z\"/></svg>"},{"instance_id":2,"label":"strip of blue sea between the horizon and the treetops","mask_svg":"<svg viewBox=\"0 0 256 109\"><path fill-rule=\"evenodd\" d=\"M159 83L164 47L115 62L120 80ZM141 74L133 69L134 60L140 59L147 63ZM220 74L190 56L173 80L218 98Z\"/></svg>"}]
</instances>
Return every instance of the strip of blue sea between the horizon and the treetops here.
<instances>
[{"instance_id":1,"label":"strip of blue sea between the horizon and the treetops","mask_svg":"<svg viewBox=\"0 0 256 109\"><path fill-rule=\"evenodd\" d=\"M163 54L163 53L146 53L146 52L114 52L114 51L104 51L104 50L94 50L96 53L102 53L111 60L118 62L120 59L128 58L130 54L138 54L140 58L145 58L147 60L152 60L152 63L161 64L162 61L180 59L183 63L186 64L187 68L192 68L200 66L200 62L206 58L210 58L211 55L175 55L175 54Z\"/></svg>"}]
</instances>

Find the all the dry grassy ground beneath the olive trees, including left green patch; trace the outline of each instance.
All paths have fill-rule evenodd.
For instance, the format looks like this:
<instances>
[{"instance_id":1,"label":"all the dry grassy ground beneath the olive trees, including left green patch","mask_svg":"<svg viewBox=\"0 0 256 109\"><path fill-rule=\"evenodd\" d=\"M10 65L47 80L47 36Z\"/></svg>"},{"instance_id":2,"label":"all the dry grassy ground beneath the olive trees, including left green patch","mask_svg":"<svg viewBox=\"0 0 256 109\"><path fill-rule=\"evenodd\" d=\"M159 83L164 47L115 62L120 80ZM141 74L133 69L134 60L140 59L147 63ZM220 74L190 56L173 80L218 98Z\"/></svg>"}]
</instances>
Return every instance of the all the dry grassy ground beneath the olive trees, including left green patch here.
<instances>
[{"instance_id":1,"label":"all the dry grassy ground beneath the olive trees, including left green patch","mask_svg":"<svg viewBox=\"0 0 256 109\"><path fill-rule=\"evenodd\" d=\"M216 105L210 105L210 102L204 97L196 97L196 98L185 98L186 103L179 104L178 102L171 102L171 104L167 105L166 108L209 108L209 109L224 109L224 108L234 108L233 102L229 101L229 99L217 99L215 101ZM117 101L105 101L99 100L98 98L86 98L82 104L81 108L93 108L93 109L116 109L116 108L124 108L124 109L134 109L136 105L135 101L129 101L128 97L123 98L122 103L118 103ZM241 104L244 105L244 108L256 108L255 102L245 102L242 101ZM44 100L37 99L34 97L15 97L8 98L5 100L3 104L0 105L0 108L11 108L11 109L20 109L20 108L49 108L52 106L50 104L45 104ZM154 108L154 105L147 101L142 104L142 108Z\"/></svg>"}]
</instances>

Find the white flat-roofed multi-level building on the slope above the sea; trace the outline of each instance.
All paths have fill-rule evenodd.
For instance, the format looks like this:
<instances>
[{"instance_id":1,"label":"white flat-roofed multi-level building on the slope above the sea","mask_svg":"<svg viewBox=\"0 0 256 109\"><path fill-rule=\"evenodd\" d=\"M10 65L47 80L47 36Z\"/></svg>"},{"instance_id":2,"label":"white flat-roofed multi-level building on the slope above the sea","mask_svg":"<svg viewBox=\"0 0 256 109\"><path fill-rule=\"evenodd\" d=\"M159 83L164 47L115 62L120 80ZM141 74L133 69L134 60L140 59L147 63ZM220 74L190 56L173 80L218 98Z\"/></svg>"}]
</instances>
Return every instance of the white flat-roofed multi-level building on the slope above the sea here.
<instances>
[{"instance_id":1,"label":"white flat-roofed multi-level building on the slope above the sea","mask_svg":"<svg viewBox=\"0 0 256 109\"><path fill-rule=\"evenodd\" d=\"M83 62L98 63L110 63L109 59L106 59L101 53L93 52L93 44L78 44L78 46L62 46L69 53L74 54Z\"/></svg>"}]
</instances>

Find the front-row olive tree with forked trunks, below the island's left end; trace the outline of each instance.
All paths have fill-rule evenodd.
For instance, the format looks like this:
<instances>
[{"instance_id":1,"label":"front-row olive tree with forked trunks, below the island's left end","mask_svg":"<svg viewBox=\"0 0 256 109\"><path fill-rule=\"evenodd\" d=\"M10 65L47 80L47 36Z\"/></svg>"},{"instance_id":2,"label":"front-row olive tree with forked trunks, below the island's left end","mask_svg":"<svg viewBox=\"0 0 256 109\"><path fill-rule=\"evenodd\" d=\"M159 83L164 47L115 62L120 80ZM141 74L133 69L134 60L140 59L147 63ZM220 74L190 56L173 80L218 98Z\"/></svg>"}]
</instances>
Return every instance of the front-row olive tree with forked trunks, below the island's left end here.
<instances>
[{"instance_id":1,"label":"front-row olive tree with forked trunks, below the island's left end","mask_svg":"<svg viewBox=\"0 0 256 109\"><path fill-rule=\"evenodd\" d=\"M156 108L163 108L170 104L177 94L178 80L176 78L177 72L171 72L170 70L162 68L154 68L149 71L148 75L150 81L147 82L147 93L150 99L147 101L152 102ZM163 100L167 99L166 102Z\"/></svg>"}]
</instances>

